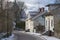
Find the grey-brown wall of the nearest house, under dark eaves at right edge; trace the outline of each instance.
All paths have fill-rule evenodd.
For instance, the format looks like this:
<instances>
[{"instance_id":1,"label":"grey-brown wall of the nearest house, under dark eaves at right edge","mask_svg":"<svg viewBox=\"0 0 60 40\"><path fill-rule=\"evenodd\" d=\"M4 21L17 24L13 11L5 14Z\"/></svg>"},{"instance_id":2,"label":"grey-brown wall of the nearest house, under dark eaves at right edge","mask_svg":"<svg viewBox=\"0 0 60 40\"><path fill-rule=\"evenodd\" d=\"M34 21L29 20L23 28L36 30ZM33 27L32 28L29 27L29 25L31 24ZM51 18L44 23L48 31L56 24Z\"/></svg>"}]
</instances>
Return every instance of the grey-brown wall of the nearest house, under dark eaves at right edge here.
<instances>
[{"instance_id":1,"label":"grey-brown wall of the nearest house, under dark eaves at right edge","mask_svg":"<svg viewBox=\"0 0 60 40\"><path fill-rule=\"evenodd\" d=\"M49 7L50 14L54 17L54 35L57 37L60 37L60 3L55 4L49 4L47 5Z\"/></svg>"}]
</instances>

